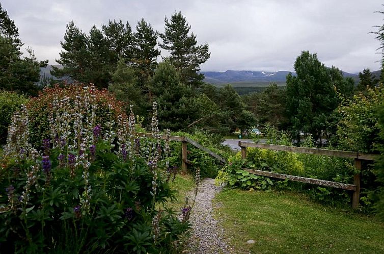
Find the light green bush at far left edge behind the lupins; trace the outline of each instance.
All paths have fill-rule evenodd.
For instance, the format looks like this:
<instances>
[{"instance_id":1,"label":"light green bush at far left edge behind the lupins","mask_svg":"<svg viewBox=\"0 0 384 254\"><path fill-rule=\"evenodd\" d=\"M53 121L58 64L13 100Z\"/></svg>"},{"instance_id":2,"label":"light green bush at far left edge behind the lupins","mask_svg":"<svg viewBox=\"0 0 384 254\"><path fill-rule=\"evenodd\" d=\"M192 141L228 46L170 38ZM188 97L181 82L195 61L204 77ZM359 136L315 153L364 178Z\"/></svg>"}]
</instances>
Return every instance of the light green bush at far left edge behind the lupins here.
<instances>
[{"instance_id":1,"label":"light green bush at far left edge behind the lupins","mask_svg":"<svg viewBox=\"0 0 384 254\"><path fill-rule=\"evenodd\" d=\"M12 114L19 110L21 104L28 101L23 95L0 91L0 144L6 143L8 125L11 123Z\"/></svg>"}]
</instances>

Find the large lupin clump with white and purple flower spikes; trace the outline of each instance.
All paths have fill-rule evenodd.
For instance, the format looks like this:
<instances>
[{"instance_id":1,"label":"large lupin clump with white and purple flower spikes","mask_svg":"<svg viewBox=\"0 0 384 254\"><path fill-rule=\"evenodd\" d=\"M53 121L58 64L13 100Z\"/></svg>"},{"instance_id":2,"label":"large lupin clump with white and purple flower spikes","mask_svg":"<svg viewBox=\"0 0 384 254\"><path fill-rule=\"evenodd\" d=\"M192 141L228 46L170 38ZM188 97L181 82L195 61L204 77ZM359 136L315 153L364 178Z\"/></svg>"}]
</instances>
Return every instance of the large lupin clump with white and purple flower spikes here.
<instances>
[{"instance_id":1,"label":"large lupin clump with white and purple flower spikes","mask_svg":"<svg viewBox=\"0 0 384 254\"><path fill-rule=\"evenodd\" d=\"M30 140L31 112L23 106L12 118L0 170L0 252L171 252L191 207L179 219L167 206L170 146L160 146L156 104L146 139L134 136L132 112L100 125L94 87L75 98L62 92L41 101L49 107L40 151Z\"/></svg>"}]
</instances>

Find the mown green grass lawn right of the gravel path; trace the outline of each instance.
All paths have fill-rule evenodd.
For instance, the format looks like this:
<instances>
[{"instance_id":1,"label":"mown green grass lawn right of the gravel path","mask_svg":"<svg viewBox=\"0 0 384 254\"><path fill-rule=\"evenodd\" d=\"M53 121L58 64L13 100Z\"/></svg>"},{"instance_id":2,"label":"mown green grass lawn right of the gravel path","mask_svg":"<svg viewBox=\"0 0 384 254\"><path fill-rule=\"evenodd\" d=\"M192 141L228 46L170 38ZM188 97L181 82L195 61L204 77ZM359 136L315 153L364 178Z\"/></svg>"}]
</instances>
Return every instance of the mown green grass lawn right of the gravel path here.
<instances>
[{"instance_id":1,"label":"mown green grass lawn right of the gravel path","mask_svg":"<svg viewBox=\"0 0 384 254\"><path fill-rule=\"evenodd\" d=\"M215 210L237 253L384 253L384 224L292 192L223 190ZM254 244L246 244L253 239Z\"/></svg>"}]
</instances>

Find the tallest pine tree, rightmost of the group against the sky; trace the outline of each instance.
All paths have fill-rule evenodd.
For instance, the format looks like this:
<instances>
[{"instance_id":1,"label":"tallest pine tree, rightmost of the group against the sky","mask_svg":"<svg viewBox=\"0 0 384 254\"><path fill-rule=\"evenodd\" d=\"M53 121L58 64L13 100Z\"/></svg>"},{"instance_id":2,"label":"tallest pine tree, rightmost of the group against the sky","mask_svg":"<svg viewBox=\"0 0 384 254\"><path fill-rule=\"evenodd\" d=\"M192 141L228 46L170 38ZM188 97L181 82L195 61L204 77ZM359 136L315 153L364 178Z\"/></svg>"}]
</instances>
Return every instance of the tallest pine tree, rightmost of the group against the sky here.
<instances>
[{"instance_id":1,"label":"tallest pine tree, rightmost of the group against the sky","mask_svg":"<svg viewBox=\"0 0 384 254\"><path fill-rule=\"evenodd\" d=\"M166 17L164 21L165 32L160 34L163 43L159 46L170 52L169 59L180 70L182 81L198 87L204 79L199 73L200 64L210 57L208 44L197 45L196 35L189 33L190 26L181 12L175 12L171 20Z\"/></svg>"}]
</instances>

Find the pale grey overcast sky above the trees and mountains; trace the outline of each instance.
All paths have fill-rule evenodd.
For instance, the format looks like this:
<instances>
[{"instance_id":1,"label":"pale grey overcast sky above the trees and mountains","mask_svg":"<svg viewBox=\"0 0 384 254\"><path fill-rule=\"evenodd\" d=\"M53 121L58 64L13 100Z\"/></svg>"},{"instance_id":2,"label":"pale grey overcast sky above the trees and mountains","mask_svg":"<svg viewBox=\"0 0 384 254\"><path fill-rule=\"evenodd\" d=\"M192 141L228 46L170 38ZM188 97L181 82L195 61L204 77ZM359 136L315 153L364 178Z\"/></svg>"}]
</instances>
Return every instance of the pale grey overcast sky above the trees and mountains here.
<instances>
[{"instance_id":1,"label":"pale grey overcast sky above the trees and mountains","mask_svg":"<svg viewBox=\"0 0 384 254\"><path fill-rule=\"evenodd\" d=\"M203 71L293 70L302 50L317 53L326 66L356 73L380 68L380 46L371 31L383 24L377 0L0 0L16 22L25 46L39 60L57 64L66 23L73 20L88 33L109 19L129 21L142 17L159 32L164 17L181 11L197 35L208 42L211 58Z\"/></svg>"}]
</instances>

